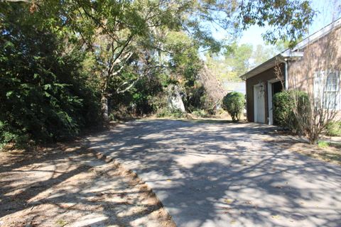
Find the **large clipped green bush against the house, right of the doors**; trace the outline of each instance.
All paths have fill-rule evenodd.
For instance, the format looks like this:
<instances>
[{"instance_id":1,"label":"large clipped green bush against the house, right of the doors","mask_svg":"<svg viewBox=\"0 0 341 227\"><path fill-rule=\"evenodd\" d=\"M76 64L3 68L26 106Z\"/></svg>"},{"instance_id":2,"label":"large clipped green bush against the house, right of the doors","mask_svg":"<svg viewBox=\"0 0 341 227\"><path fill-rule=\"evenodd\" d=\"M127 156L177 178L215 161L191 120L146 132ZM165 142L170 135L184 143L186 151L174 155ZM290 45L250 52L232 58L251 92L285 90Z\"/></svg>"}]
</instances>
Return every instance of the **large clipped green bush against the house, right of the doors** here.
<instances>
[{"instance_id":1,"label":"large clipped green bush against the house, right of the doors","mask_svg":"<svg viewBox=\"0 0 341 227\"><path fill-rule=\"evenodd\" d=\"M300 121L309 120L310 102L308 94L300 91L279 92L274 95L274 123L288 128L293 133L301 131L294 110L298 112ZM297 106L295 106L297 104Z\"/></svg>"}]
</instances>

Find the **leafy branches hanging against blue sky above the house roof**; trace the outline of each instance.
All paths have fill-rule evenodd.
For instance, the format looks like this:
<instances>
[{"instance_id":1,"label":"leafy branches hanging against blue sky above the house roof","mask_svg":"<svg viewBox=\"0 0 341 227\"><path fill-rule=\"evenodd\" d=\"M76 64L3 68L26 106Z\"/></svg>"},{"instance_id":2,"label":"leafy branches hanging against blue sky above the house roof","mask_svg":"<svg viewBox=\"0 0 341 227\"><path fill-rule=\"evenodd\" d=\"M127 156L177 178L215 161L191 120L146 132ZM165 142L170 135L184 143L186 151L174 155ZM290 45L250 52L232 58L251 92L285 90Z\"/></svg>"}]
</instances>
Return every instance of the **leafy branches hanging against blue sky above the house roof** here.
<instances>
[{"instance_id":1,"label":"leafy branches hanging against blue sky above the house roof","mask_svg":"<svg viewBox=\"0 0 341 227\"><path fill-rule=\"evenodd\" d=\"M263 38L271 44L278 40L286 40L293 47L307 32L307 25L312 21L315 12L309 1L242 1L239 18L244 29L251 25L264 27L266 24L271 30L264 33Z\"/></svg>"}]
</instances>

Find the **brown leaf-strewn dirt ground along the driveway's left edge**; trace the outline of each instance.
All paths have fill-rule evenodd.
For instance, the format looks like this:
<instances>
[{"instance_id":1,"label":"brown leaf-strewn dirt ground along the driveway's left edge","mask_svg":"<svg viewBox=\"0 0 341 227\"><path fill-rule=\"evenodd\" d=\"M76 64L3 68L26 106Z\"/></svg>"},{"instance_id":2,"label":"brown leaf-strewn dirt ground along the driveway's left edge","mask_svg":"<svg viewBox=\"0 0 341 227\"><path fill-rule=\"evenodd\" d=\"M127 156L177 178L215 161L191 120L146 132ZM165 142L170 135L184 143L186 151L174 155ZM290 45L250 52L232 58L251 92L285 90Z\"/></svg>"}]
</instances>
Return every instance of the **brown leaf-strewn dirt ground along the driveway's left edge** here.
<instances>
[{"instance_id":1,"label":"brown leaf-strewn dirt ground along the driveway's left edge","mask_svg":"<svg viewBox=\"0 0 341 227\"><path fill-rule=\"evenodd\" d=\"M72 144L0 154L0 226L175 224L134 173Z\"/></svg>"}]
</instances>

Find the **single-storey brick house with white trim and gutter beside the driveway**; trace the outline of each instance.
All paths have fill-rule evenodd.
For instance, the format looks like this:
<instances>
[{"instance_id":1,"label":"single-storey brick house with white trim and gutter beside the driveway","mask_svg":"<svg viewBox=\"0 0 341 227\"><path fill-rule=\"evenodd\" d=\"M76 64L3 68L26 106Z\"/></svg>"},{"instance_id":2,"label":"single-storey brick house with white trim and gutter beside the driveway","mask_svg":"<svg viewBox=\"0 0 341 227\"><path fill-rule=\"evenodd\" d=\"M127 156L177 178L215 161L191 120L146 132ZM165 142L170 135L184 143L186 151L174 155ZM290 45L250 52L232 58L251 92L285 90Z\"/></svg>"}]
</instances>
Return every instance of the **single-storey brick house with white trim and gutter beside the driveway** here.
<instances>
[{"instance_id":1,"label":"single-storey brick house with white trim and gutter beside the driveway","mask_svg":"<svg viewBox=\"0 0 341 227\"><path fill-rule=\"evenodd\" d=\"M283 89L299 89L323 97L327 109L341 116L341 18L241 77L246 81L247 119L273 124L272 97ZM327 105L328 104L328 105Z\"/></svg>"}]
</instances>

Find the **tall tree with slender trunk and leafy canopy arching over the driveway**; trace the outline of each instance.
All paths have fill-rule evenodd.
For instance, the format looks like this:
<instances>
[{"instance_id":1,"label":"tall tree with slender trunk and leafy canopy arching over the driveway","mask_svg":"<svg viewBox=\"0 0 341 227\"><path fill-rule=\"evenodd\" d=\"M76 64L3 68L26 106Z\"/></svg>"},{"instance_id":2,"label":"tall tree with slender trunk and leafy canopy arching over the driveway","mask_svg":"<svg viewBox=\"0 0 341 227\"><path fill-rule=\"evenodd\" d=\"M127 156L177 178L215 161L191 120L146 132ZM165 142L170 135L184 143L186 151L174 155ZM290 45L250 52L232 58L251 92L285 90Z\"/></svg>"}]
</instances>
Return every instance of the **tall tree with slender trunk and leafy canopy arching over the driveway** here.
<instances>
[{"instance_id":1,"label":"tall tree with slender trunk and leafy canopy arching over the driveway","mask_svg":"<svg viewBox=\"0 0 341 227\"><path fill-rule=\"evenodd\" d=\"M129 64L136 48L148 46L166 52L159 43L164 31L185 31L196 45L220 50L207 23L238 30L252 24L274 27L266 39L297 40L313 16L308 1L32 1L31 9L48 17L45 26L70 28L87 50L92 50L102 78L102 103L107 118L107 84ZM206 21L206 23L205 23ZM289 23L290 22L290 23ZM282 29L286 33L279 33ZM100 40L98 40L100 39ZM97 40L97 41L96 41ZM139 41L140 40L140 41ZM141 42L141 40L143 40ZM100 42L99 42L100 41ZM148 68L148 67L147 67ZM141 70L142 72L148 70ZM134 86L122 83L119 91Z\"/></svg>"}]
</instances>

